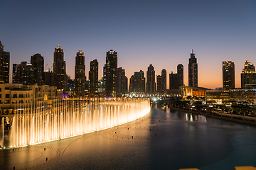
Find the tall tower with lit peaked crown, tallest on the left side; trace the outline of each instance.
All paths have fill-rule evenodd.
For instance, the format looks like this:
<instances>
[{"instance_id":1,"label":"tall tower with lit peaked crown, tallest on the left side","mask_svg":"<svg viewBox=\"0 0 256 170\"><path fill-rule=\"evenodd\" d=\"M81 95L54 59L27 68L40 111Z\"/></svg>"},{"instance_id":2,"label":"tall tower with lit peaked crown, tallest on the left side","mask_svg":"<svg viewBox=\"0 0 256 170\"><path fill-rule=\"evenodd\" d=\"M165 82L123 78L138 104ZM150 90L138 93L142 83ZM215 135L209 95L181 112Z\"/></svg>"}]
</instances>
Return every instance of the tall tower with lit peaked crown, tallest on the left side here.
<instances>
[{"instance_id":1,"label":"tall tower with lit peaked crown, tallest on the left side","mask_svg":"<svg viewBox=\"0 0 256 170\"><path fill-rule=\"evenodd\" d=\"M66 64L64 61L63 49L58 45L55 48L54 58L53 58L53 86L57 86L57 89L63 89L63 93L66 90Z\"/></svg>"}]
</instances>

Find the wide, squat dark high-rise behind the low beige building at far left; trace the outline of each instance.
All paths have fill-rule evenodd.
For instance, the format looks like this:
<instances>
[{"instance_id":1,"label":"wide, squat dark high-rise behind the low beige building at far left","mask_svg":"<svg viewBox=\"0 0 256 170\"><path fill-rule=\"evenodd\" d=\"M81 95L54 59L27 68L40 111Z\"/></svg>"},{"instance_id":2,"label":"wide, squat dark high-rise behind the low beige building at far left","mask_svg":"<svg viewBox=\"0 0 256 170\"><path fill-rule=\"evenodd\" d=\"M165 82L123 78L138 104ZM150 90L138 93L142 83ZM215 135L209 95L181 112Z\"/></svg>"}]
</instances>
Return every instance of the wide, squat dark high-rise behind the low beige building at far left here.
<instances>
[{"instance_id":1,"label":"wide, squat dark high-rise behind the low beige building at far left","mask_svg":"<svg viewBox=\"0 0 256 170\"><path fill-rule=\"evenodd\" d=\"M18 64L15 80L17 84L33 85L33 65L27 62Z\"/></svg>"}]
</instances>

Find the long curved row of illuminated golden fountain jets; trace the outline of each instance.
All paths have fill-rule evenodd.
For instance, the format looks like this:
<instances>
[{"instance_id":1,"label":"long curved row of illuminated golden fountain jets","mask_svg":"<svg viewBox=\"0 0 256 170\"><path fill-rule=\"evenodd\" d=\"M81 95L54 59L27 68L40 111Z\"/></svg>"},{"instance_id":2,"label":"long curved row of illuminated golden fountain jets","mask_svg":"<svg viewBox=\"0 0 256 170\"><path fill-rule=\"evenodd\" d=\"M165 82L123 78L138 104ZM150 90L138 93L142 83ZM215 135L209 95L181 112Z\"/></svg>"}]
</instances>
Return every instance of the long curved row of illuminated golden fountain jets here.
<instances>
[{"instance_id":1,"label":"long curved row of illuminated golden fountain jets","mask_svg":"<svg viewBox=\"0 0 256 170\"><path fill-rule=\"evenodd\" d=\"M147 99L42 101L15 113L9 147L26 147L112 128L146 115Z\"/></svg>"}]
</instances>

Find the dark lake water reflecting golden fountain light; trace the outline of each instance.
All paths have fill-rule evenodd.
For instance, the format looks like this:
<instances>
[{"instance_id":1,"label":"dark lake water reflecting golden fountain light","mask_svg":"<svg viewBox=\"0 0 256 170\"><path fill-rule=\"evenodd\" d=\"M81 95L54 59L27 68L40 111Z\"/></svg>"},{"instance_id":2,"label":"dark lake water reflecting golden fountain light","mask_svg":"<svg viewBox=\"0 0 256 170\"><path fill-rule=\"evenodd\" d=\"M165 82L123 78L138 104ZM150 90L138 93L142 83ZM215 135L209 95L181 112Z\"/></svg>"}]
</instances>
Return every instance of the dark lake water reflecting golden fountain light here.
<instances>
[{"instance_id":1,"label":"dark lake water reflecting golden fountain light","mask_svg":"<svg viewBox=\"0 0 256 170\"><path fill-rule=\"evenodd\" d=\"M0 160L4 161L0 166L5 169L16 166L16 169L231 170L234 166L256 166L256 128L152 108L149 115L126 125L14 152L1 151ZM30 162L21 161L28 155L34 158L30 157Z\"/></svg>"}]
</instances>

